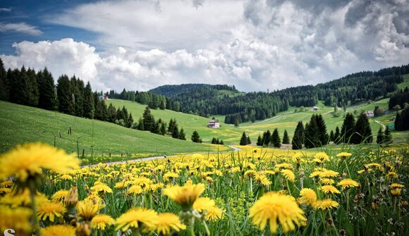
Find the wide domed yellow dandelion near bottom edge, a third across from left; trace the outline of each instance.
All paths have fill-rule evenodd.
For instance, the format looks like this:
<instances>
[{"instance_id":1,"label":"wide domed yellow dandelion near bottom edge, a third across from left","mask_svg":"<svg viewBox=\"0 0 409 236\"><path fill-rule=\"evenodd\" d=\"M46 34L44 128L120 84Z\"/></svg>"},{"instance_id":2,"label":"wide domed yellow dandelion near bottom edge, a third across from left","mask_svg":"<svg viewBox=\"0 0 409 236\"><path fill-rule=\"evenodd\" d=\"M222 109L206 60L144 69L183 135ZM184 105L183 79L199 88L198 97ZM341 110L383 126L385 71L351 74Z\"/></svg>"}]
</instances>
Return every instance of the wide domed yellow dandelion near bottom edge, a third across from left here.
<instances>
[{"instance_id":1,"label":"wide domed yellow dandelion near bottom edge, a third across from left","mask_svg":"<svg viewBox=\"0 0 409 236\"><path fill-rule=\"evenodd\" d=\"M153 230L158 221L158 213L156 211L144 208L133 208L119 216L116 221L115 230L125 232L129 228L135 230Z\"/></svg>"}]
</instances>

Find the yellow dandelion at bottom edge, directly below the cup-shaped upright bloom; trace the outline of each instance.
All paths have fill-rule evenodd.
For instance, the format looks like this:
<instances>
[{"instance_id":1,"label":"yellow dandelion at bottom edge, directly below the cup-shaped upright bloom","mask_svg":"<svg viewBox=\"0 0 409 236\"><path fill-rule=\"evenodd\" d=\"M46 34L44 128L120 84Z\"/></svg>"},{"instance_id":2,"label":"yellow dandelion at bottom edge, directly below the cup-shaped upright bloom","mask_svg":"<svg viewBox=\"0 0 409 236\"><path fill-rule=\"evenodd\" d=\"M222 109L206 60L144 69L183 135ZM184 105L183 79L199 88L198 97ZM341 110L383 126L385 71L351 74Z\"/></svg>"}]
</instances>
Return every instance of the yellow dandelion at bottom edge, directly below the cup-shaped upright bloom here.
<instances>
[{"instance_id":1,"label":"yellow dandelion at bottom edge, directly below the cup-shaped upright bloom","mask_svg":"<svg viewBox=\"0 0 409 236\"><path fill-rule=\"evenodd\" d=\"M175 214L160 213L158 215L155 230L159 235L170 235L172 230L179 232L180 230L185 229L186 225L183 225L179 217Z\"/></svg>"}]
</instances>

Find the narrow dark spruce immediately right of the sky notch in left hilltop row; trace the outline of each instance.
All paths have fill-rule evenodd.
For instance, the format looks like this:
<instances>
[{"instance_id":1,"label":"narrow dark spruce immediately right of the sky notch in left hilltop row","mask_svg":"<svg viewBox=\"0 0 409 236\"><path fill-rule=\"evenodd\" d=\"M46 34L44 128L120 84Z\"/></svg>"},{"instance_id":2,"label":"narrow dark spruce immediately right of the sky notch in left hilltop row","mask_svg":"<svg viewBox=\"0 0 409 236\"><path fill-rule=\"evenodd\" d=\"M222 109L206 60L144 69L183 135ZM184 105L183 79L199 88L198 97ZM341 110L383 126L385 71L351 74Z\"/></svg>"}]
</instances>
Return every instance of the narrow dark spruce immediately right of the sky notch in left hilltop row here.
<instances>
[{"instance_id":1,"label":"narrow dark spruce immediately right of the sky notch in left hilltop row","mask_svg":"<svg viewBox=\"0 0 409 236\"><path fill-rule=\"evenodd\" d=\"M70 80L67 75L61 75L57 80L57 98L59 111L66 114L74 114L73 96Z\"/></svg>"}]
</instances>

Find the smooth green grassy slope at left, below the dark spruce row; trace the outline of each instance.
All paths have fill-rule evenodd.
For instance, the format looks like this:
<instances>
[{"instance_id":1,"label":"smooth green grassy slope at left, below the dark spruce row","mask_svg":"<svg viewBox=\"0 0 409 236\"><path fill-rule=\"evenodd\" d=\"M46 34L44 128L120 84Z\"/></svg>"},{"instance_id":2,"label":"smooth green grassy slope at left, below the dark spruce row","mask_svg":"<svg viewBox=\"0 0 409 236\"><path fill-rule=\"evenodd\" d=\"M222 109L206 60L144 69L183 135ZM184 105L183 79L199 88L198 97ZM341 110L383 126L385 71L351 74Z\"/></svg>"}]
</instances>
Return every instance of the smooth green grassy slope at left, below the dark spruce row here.
<instances>
[{"instance_id":1,"label":"smooth green grassy slope at left, below the dark spruce row","mask_svg":"<svg viewBox=\"0 0 409 236\"><path fill-rule=\"evenodd\" d=\"M94 156L112 153L121 156L156 156L182 154L195 151L216 151L216 145L195 144L149 132L123 128L120 125L68 116L39 108L21 106L0 101L0 152L24 142L45 142L76 152L78 139L80 150L89 156L93 146ZM67 135L71 127L72 135ZM61 132L61 138L59 137ZM92 135L92 133L94 135Z\"/></svg>"}]
</instances>

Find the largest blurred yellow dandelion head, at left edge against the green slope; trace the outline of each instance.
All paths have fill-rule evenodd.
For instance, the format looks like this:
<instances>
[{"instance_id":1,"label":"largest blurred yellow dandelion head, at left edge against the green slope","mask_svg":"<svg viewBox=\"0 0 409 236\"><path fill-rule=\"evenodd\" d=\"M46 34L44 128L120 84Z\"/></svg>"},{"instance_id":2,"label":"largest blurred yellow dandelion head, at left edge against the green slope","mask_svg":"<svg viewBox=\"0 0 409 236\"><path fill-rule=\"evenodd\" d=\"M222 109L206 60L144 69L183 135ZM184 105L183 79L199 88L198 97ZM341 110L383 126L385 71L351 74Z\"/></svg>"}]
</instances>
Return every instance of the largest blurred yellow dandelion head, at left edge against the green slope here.
<instances>
[{"instance_id":1,"label":"largest blurred yellow dandelion head, at left edge against the green slope","mask_svg":"<svg viewBox=\"0 0 409 236\"><path fill-rule=\"evenodd\" d=\"M1 156L0 179L14 175L18 181L25 182L30 176L41 175L42 169L63 172L79 168L79 164L75 156L47 144L24 144Z\"/></svg>"}]
</instances>

